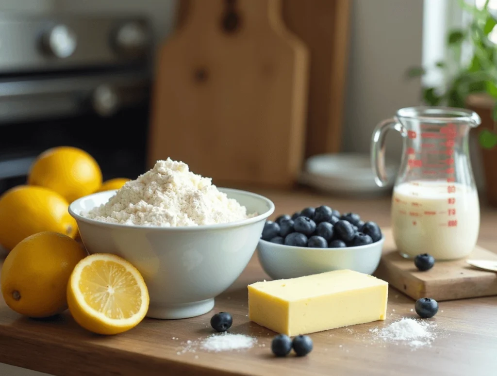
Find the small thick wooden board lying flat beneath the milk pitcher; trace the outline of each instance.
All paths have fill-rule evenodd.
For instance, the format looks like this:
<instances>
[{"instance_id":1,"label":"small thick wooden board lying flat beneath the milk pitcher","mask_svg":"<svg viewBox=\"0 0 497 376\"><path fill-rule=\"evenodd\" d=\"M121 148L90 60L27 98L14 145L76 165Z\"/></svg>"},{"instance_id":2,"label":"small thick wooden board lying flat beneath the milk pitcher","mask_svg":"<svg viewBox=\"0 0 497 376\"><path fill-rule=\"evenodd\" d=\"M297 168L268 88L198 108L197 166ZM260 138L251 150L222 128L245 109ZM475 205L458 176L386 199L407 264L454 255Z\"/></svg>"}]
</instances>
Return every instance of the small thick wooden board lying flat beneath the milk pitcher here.
<instances>
[{"instance_id":1,"label":"small thick wooden board lying flat beneath the milk pitcher","mask_svg":"<svg viewBox=\"0 0 497 376\"><path fill-rule=\"evenodd\" d=\"M375 276L411 298L448 301L497 295L497 273L473 268L465 259L438 261L432 269L420 272L413 260L399 255L391 229L384 233L383 256ZM468 259L497 260L497 255L476 246Z\"/></svg>"}]
</instances>

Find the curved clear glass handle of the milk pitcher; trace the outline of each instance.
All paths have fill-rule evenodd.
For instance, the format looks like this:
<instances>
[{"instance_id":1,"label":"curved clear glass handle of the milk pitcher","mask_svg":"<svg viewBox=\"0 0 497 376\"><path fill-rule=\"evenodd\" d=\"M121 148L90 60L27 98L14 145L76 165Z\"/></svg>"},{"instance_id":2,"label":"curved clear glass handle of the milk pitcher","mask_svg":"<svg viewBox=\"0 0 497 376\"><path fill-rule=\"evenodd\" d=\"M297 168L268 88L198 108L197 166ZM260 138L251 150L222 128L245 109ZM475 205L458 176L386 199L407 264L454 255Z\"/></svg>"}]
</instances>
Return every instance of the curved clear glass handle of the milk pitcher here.
<instances>
[{"instance_id":1,"label":"curved clear glass handle of the milk pitcher","mask_svg":"<svg viewBox=\"0 0 497 376\"><path fill-rule=\"evenodd\" d=\"M390 183L385 168L385 136L391 129L398 131L404 140L407 137L406 128L392 118L379 123L371 139L371 166L376 175L375 182L380 187L385 187Z\"/></svg>"}]
</instances>

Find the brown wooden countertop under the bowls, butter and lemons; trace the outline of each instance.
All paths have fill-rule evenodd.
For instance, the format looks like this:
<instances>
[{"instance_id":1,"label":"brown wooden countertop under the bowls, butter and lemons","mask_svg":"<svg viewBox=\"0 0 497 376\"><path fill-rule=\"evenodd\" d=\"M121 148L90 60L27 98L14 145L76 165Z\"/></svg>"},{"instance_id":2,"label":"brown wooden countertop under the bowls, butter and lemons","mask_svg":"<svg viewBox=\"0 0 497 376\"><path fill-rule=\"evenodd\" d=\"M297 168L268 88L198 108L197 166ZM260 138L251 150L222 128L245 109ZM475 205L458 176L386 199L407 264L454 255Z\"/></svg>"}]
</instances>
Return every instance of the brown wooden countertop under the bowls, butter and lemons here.
<instances>
[{"instance_id":1,"label":"brown wooden countertop under the bowls, butter and lemons","mask_svg":"<svg viewBox=\"0 0 497 376\"><path fill-rule=\"evenodd\" d=\"M346 200L312 194L260 192L277 213L327 204L389 225L390 201ZM497 251L497 212L482 207L479 244ZM104 337L80 328L69 313L35 320L0 305L0 362L60 376L76 375L496 375L497 297L440 303L433 318L437 338L431 347L374 341L370 328L414 316L414 301L390 289L387 320L312 334L314 351L306 358L276 359L273 332L248 321L247 285L268 278L256 257L238 281L216 299L215 311L229 311L232 333L257 337L256 347L241 352L181 353L186 341L212 333L212 312L184 320L145 319L121 335ZM173 339L177 338L177 339ZM376 343L375 343L376 342ZM179 355L178 355L179 353Z\"/></svg>"}]
</instances>

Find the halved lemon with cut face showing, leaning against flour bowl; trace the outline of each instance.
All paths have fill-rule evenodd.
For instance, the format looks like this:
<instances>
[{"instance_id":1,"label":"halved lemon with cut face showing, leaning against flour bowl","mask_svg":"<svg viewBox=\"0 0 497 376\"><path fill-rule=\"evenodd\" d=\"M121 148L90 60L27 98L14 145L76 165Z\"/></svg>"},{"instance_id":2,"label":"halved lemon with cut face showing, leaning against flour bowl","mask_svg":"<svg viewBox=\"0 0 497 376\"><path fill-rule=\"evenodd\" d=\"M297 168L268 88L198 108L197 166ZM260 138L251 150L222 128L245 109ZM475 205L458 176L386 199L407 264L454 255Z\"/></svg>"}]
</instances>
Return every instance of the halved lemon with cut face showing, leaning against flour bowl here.
<instances>
[{"instance_id":1,"label":"halved lemon with cut face showing, leaning against flour bowl","mask_svg":"<svg viewBox=\"0 0 497 376\"><path fill-rule=\"evenodd\" d=\"M113 254L85 257L67 286L69 310L83 328L118 334L134 328L149 308L149 293L140 272Z\"/></svg>"}]
</instances>

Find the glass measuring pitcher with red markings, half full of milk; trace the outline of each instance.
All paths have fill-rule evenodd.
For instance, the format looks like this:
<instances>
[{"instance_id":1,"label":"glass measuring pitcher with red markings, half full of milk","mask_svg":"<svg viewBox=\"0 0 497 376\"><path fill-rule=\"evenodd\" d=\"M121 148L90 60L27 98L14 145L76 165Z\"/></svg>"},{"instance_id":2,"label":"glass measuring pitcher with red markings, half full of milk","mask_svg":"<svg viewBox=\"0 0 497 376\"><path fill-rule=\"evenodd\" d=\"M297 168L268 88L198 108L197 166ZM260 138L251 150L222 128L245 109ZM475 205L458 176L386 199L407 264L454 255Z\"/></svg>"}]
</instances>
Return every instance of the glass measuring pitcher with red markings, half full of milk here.
<instances>
[{"instance_id":1,"label":"glass measuring pitcher with red markings, half full of milk","mask_svg":"<svg viewBox=\"0 0 497 376\"><path fill-rule=\"evenodd\" d=\"M429 253L437 260L467 256L480 229L480 204L469 156L469 130L480 125L473 111L410 107L376 126L371 162L376 183L389 183L385 135L402 135L403 156L392 197L392 229L404 257Z\"/></svg>"}]
</instances>

